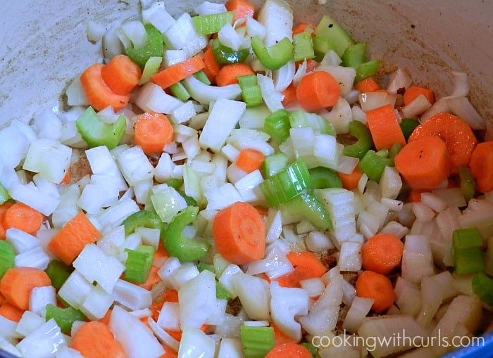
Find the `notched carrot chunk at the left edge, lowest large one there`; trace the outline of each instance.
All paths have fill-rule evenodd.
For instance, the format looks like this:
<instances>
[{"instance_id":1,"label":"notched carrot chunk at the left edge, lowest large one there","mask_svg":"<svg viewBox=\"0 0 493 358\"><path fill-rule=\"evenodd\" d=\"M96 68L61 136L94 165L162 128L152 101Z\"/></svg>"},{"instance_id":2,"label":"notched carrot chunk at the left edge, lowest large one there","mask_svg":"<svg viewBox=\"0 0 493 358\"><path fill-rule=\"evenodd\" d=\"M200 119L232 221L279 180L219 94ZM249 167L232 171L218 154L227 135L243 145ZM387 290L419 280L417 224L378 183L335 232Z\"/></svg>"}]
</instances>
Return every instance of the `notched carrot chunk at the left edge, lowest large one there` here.
<instances>
[{"instance_id":1,"label":"notched carrot chunk at the left edge, lowest large one there","mask_svg":"<svg viewBox=\"0 0 493 358\"><path fill-rule=\"evenodd\" d=\"M19 309L29 309L29 298L35 287L51 286L46 272L33 267L8 269L0 281L0 293L5 300Z\"/></svg>"}]
</instances>

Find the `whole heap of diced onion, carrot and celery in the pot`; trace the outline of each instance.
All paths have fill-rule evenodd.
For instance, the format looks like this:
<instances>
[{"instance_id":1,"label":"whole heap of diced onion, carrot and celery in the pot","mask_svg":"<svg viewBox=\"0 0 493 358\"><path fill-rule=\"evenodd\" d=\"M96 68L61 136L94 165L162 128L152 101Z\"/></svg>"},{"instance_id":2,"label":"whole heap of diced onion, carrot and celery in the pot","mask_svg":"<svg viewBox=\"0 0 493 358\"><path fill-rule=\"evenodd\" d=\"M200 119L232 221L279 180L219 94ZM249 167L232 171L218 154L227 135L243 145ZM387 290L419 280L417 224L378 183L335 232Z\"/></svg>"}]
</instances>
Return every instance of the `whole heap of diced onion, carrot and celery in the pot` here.
<instances>
[{"instance_id":1,"label":"whole heap of diced onion, carrot and celery in the pot","mask_svg":"<svg viewBox=\"0 0 493 358\"><path fill-rule=\"evenodd\" d=\"M10 317L2 321L2 347L25 357L44 354L40 345L46 355L77 356L89 354L84 341L96 334L96 352L111 347L105 351L115 357L214 357L216 350L218 357L270 357L282 349L330 357L334 347L313 338L342 338L346 329L363 339L396 331L423 338L485 331L489 308L481 302L490 302L493 286L492 193L475 186L467 202L454 188L461 177L454 170L449 175L457 139L440 139L443 131L433 126L430 135L420 129L437 116L451 117L437 115L444 108L459 115L452 104L443 106L450 98L404 101L412 79L399 69L384 87L379 60L366 58L366 46L330 14L307 25L308 36L293 37L297 20L280 0L266 1L256 13L238 1L204 3L198 13L175 18L164 3L142 6L139 18L108 27L105 64L74 74L66 112L1 132L21 139L0 148L1 198L8 206L1 222L6 308L0 312ZM246 9L244 18L225 22L228 10L239 8ZM220 30L210 34L216 22ZM216 76L203 59L209 49L220 67ZM135 71L125 84L115 84L116 75L106 83L103 69L111 73L120 53L142 77L130 65ZM239 75L254 77L243 85L242 79L218 81L235 63L253 71ZM366 76L375 76L379 89L357 86ZM455 76L452 97L469 103L461 91L465 75ZM120 108L116 91L135 80L129 104ZM286 105L289 87L295 91ZM255 101L246 99L249 89ZM307 103L311 94L324 93L330 101ZM400 125L404 113L423 122L409 143ZM463 125L484 127L467 114ZM154 118L168 127L159 138L152 125L139 132L142 121ZM344 150L359 140L356 150ZM477 148L477 141L469 143ZM245 163L249 151L259 154ZM408 158L437 152L440 165L432 169L438 174L428 181L423 172L409 176L406 160L402 165L409 151ZM483 153L477 156L487 158ZM471 165L469 181L487 181L477 167ZM337 174L356 179L339 182ZM422 192L409 203L416 181ZM8 224L19 205L35 210L41 226ZM149 212L138 214L142 221L141 212ZM377 234L401 245L365 267L370 246L363 244ZM42 279L30 279L30 269ZM13 290L13 280L29 283ZM20 312L11 306L19 302L16 323L11 318ZM56 305L70 311L54 311ZM104 328L98 334L92 326ZM293 340L280 353L273 326ZM61 334L68 328L70 338ZM80 343L77 335L86 338ZM382 357L411 347L366 348ZM416 347L413 354L434 357L449 349ZM341 354L359 351L344 347Z\"/></svg>"}]
</instances>

